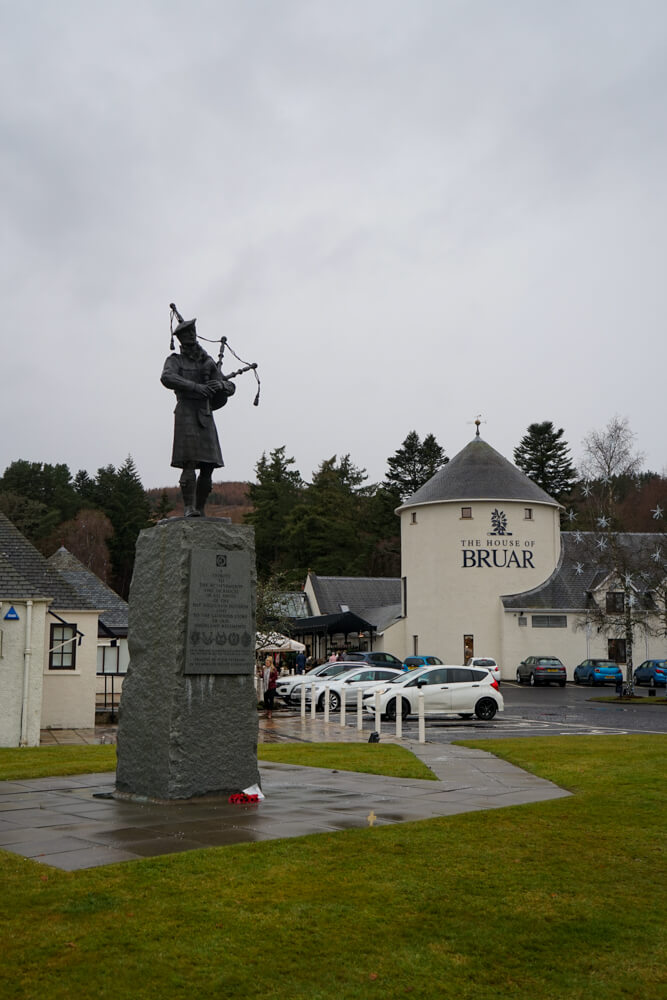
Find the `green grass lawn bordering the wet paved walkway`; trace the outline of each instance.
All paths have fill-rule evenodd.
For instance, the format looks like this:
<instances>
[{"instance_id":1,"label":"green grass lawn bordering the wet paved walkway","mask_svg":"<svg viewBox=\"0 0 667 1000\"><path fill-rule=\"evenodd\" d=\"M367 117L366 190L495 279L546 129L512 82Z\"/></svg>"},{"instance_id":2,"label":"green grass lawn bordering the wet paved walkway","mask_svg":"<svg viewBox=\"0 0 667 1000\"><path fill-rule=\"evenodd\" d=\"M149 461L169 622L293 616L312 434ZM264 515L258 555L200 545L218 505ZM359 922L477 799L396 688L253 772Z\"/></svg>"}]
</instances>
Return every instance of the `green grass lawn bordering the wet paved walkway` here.
<instances>
[{"instance_id":1,"label":"green grass lawn bordering the wet paved walkway","mask_svg":"<svg viewBox=\"0 0 667 1000\"><path fill-rule=\"evenodd\" d=\"M575 794L73 874L0 853L0 996L664 997L666 738L475 745Z\"/></svg>"}]
</instances>

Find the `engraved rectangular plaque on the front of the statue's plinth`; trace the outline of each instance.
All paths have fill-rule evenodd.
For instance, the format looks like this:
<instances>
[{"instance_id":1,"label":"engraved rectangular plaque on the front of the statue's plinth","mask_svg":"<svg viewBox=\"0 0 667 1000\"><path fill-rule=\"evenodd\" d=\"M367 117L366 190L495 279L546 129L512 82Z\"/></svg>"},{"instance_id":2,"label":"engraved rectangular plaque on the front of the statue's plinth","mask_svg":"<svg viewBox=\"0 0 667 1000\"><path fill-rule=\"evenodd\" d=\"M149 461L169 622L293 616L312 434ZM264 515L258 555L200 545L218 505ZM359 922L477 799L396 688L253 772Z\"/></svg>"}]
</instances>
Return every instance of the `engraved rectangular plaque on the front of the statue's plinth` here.
<instances>
[{"instance_id":1,"label":"engraved rectangular plaque on the front of the statue's plinth","mask_svg":"<svg viewBox=\"0 0 667 1000\"><path fill-rule=\"evenodd\" d=\"M252 674L251 565L246 551L193 549L186 674Z\"/></svg>"}]
</instances>

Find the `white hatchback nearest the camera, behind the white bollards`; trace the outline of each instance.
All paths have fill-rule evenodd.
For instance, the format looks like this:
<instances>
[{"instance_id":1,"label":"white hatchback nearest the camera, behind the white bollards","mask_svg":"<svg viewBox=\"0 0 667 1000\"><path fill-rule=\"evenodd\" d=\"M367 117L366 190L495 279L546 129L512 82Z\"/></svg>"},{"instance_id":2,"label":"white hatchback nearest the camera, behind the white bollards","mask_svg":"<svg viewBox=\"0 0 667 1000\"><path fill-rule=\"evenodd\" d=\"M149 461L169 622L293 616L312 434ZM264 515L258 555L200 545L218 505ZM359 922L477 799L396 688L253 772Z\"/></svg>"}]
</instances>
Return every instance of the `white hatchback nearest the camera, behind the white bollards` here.
<instances>
[{"instance_id":1,"label":"white hatchback nearest the camera, behind the white bollards","mask_svg":"<svg viewBox=\"0 0 667 1000\"><path fill-rule=\"evenodd\" d=\"M424 695L424 715L458 715L462 719L492 719L504 710L498 682L482 667L422 667L402 673L389 684L375 685L364 693L364 708L375 715L380 696L380 714L395 719L397 706L404 719L419 711Z\"/></svg>"}]
</instances>

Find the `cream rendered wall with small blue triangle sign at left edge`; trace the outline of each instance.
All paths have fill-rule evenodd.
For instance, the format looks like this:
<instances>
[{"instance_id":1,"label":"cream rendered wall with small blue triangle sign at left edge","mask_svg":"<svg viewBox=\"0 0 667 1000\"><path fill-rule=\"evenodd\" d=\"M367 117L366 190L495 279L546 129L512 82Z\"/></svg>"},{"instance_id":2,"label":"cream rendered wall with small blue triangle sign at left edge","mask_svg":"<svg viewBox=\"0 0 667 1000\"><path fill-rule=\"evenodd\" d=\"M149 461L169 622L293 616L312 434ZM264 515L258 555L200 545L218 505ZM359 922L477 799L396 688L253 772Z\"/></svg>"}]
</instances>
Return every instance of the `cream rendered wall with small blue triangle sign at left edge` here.
<instances>
[{"instance_id":1,"label":"cream rendered wall with small blue triangle sign at left edge","mask_svg":"<svg viewBox=\"0 0 667 1000\"><path fill-rule=\"evenodd\" d=\"M30 649L27 687L26 744L39 746L42 709L42 669L44 664L44 618L49 602L33 600L32 627L26 635L28 606L25 601L6 600L0 604L2 655L0 656L0 746L17 747L21 739L21 709L24 693L26 643ZM14 608L16 620L5 620Z\"/></svg>"}]
</instances>

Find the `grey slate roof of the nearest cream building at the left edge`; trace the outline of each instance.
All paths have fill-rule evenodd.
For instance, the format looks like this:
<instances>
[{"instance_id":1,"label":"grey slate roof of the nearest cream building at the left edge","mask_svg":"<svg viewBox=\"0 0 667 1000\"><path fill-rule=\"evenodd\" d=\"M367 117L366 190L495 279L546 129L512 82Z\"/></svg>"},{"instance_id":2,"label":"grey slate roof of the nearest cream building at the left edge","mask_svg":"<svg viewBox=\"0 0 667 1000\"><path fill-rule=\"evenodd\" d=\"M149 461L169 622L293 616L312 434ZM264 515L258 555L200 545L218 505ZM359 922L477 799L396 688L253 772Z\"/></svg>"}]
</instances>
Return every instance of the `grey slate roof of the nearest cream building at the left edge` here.
<instances>
[{"instance_id":1,"label":"grey slate roof of the nearest cream building at the left edge","mask_svg":"<svg viewBox=\"0 0 667 1000\"><path fill-rule=\"evenodd\" d=\"M0 513L0 600L31 598L51 598L53 609L94 611L97 608L80 597L9 518Z\"/></svg>"}]
</instances>

